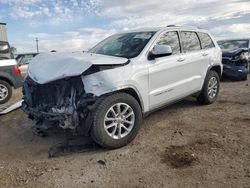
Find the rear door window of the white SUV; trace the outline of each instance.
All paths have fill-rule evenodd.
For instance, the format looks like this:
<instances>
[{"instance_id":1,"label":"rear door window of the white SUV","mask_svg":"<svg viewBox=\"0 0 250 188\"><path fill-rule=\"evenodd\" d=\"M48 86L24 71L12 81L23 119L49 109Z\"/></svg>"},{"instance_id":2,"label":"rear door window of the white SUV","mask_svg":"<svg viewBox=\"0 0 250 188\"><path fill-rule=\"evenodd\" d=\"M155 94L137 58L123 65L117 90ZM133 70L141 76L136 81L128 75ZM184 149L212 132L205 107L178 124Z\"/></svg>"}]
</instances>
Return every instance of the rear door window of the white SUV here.
<instances>
[{"instance_id":1,"label":"rear door window of the white SUV","mask_svg":"<svg viewBox=\"0 0 250 188\"><path fill-rule=\"evenodd\" d=\"M184 53L201 49L199 38L195 32L182 31L181 40Z\"/></svg>"}]
</instances>

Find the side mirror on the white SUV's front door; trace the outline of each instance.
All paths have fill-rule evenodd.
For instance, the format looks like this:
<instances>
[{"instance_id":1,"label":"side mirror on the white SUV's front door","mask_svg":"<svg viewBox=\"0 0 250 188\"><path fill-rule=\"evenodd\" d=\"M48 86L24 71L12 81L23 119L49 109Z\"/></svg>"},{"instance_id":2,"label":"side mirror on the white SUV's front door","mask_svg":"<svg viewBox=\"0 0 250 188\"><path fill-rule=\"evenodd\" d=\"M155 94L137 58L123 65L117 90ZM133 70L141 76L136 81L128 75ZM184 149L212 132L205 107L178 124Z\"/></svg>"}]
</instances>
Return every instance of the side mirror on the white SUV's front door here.
<instances>
[{"instance_id":1,"label":"side mirror on the white SUV's front door","mask_svg":"<svg viewBox=\"0 0 250 188\"><path fill-rule=\"evenodd\" d=\"M172 48L169 45L155 45L149 53L149 59L172 55Z\"/></svg>"}]
</instances>

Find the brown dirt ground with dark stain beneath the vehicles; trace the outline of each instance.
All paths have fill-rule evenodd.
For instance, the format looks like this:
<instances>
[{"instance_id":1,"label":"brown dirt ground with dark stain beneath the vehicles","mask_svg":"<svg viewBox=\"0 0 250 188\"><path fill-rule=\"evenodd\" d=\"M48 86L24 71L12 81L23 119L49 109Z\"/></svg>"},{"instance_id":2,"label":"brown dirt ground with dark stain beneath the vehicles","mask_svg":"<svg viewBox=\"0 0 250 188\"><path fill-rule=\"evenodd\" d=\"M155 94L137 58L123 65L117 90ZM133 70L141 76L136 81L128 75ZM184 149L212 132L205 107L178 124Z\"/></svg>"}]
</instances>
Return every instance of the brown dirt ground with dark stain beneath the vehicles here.
<instances>
[{"instance_id":1,"label":"brown dirt ground with dark stain beneath the vehicles","mask_svg":"<svg viewBox=\"0 0 250 188\"><path fill-rule=\"evenodd\" d=\"M213 105L188 98L151 114L113 151L49 159L62 134L30 128L21 110L0 117L0 187L250 187L250 81L223 82Z\"/></svg>"}]
</instances>

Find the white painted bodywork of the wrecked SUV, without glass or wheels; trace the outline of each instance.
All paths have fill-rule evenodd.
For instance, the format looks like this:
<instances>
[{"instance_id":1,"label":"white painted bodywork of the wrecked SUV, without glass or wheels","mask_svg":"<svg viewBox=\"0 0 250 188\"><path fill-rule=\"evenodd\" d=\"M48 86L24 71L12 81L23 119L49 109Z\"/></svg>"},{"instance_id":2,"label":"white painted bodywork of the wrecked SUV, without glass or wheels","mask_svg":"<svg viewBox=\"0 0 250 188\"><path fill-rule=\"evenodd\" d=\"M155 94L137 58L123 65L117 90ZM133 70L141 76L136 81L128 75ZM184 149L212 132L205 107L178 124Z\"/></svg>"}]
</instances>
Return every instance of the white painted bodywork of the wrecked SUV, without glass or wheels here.
<instances>
[{"instance_id":1,"label":"white painted bodywork of the wrecked SUV, without glass or wheels","mask_svg":"<svg viewBox=\"0 0 250 188\"><path fill-rule=\"evenodd\" d=\"M222 53L213 38L214 48L148 60L149 52L162 34L180 30L207 33L205 30L190 27L159 29L141 54L131 58L129 64L83 75L85 91L101 96L112 91L131 88L138 94L143 112L200 91L209 67L219 65L222 68ZM118 65L127 61L126 58L81 52L42 54L31 62L29 75L43 84L67 76L81 75L91 65Z\"/></svg>"}]
</instances>

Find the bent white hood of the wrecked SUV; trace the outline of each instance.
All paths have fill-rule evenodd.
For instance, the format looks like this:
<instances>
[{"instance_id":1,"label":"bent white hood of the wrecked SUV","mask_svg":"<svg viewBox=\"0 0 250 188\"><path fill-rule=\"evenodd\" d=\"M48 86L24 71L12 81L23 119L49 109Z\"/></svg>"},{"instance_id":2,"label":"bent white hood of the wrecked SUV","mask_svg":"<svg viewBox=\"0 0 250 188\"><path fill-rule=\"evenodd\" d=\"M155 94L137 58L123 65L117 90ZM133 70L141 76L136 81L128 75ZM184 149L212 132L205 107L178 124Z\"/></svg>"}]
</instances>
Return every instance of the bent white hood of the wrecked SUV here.
<instances>
[{"instance_id":1,"label":"bent white hood of the wrecked SUV","mask_svg":"<svg viewBox=\"0 0 250 188\"><path fill-rule=\"evenodd\" d=\"M29 76L39 84L46 84L66 77L79 76L92 65L122 65L127 58L100 54L43 53L37 55L29 64Z\"/></svg>"}]
</instances>

